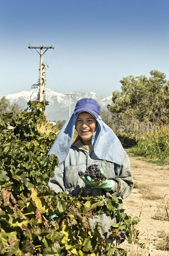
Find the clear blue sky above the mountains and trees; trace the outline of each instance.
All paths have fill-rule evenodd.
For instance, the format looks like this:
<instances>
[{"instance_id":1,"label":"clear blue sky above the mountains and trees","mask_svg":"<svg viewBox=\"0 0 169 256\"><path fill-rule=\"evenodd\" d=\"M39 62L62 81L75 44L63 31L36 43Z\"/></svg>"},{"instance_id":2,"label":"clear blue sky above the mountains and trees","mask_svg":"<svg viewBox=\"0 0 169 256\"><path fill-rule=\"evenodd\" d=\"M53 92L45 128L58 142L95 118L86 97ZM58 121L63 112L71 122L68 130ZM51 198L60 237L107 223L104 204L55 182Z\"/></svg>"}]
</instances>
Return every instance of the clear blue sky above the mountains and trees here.
<instances>
[{"instance_id":1,"label":"clear blue sky above the mountains and trees","mask_svg":"<svg viewBox=\"0 0 169 256\"><path fill-rule=\"evenodd\" d=\"M129 74L169 74L169 1L5 0L0 4L0 95L29 91L50 46L46 87L56 92L120 90ZM54 54L55 53L55 54ZM61 73L60 73L61 70Z\"/></svg>"}]
</instances>

